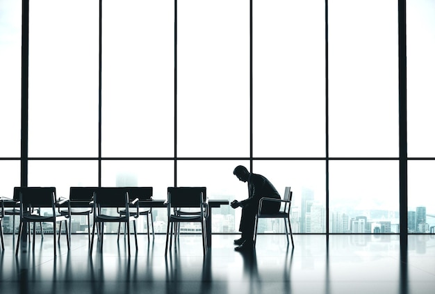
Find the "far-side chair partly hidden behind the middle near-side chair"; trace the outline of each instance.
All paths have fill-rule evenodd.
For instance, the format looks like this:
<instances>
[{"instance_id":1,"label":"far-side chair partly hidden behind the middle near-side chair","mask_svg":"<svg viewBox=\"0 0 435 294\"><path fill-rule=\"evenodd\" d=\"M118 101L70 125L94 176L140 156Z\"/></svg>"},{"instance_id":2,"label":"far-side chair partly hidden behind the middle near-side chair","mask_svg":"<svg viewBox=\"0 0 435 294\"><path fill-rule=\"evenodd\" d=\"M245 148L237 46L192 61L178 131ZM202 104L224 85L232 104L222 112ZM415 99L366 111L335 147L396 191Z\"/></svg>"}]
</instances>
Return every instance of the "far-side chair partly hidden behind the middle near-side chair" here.
<instances>
[{"instance_id":1,"label":"far-side chair partly hidden behind the middle near-side chair","mask_svg":"<svg viewBox=\"0 0 435 294\"><path fill-rule=\"evenodd\" d=\"M151 201L153 196L153 187L125 187L126 190L129 192L129 199L130 201L133 199L138 198L139 199L139 208L140 202L142 201ZM118 210L118 213L121 215L125 215L125 209ZM131 213L135 213L134 211ZM151 229L152 234L154 238L154 224L153 224L153 213L151 207L146 207L145 209L139 209L139 215L145 215L147 217L147 234L148 234L148 241L149 241L149 218L151 217ZM118 241L120 240L120 229L121 229L121 223L118 226ZM124 237L125 237L125 226L124 226Z\"/></svg>"}]
</instances>

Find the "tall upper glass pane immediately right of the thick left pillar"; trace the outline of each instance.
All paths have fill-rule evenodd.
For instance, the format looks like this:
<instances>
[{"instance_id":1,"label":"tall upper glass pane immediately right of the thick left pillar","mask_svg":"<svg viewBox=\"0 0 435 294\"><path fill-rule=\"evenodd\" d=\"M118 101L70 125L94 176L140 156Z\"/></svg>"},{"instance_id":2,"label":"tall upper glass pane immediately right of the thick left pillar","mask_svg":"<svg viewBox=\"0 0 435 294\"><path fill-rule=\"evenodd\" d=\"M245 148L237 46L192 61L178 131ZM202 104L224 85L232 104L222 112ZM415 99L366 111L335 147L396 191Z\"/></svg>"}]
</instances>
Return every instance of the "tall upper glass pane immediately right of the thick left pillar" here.
<instances>
[{"instance_id":1,"label":"tall upper glass pane immediately right of the thick left pillar","mask_svg":"<svg viewBox=\"0 0 435 294\"><path fill-rule=\"evenodd\" d=\"M28 155L98 155L99 6L42 0L29 12Z\"/></svg>"}]
</instances>

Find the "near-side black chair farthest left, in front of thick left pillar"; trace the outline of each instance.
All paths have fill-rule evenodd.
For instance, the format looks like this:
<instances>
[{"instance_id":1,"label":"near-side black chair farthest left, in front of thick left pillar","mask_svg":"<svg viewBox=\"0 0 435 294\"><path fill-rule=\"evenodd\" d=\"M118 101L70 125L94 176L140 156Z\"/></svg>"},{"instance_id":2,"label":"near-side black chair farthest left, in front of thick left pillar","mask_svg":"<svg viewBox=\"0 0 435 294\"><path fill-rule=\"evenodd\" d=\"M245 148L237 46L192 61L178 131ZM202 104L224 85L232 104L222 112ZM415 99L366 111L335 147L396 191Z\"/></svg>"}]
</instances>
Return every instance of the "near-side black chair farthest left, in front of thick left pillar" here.
<instances>
[{"instance_id":1,"label":"near-side black chair farthest left, in front of thick left pillar","mask_svg":"<svg viewBox=\"0 0 435 294\"><path fill-rule=\"evenodd\" d=\"M65 221L67 245L68 250L70 249L67 227L67 219L70 217L70 215L56 214L56 205L62 205L65 203L69 204L68 199L64 199L63 201L56 203L56 188L54 187L28 187L19 189L19 229L15 255L18 254L23 226L28 222L33 222L33 251L35 251L35 222L53 222L53 249L54 256L56 256L56 223ZM33 209L35 207L49 208L51 209L51 213L44 213L44 215L35 214L33 213Z\"/></svg>"}]
</instances>

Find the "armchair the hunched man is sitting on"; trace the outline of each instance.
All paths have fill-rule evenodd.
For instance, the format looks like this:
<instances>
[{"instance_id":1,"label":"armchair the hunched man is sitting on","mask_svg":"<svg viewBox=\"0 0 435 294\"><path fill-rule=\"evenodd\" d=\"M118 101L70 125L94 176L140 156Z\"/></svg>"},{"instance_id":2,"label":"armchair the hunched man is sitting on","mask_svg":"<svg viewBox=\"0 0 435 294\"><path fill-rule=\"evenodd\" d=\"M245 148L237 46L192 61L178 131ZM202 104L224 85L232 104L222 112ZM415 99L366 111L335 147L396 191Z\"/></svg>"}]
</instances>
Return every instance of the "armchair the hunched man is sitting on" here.
<instances>
[{"instance_id":1,"label":"armchair the hunched man is sitting on","mask_svg":"<svg viewBox=\"0 0 435 294\"><path fill-rule=\"evenodd\" d=\"M290 187L286 187L283 199L275 199L275 198L268 198L268 197L263 197L260 199L260 202L258 204L258 212L257 212L256 218L255 218L254 246L256 243L258 220L260 218L282 218L282 219L284 219L284 226L286 227L287 244L289 244L288 230L287 230L287 222L288 222L288 228L290 229L290 238L292 240L292 246L295 247L295 243L293 242L292 227L290 224L290 205L291 205L291 201L292 201L292 195L293 195L293 192L290 191ZM261 207L263 206L263 202L266 202L266 201L281 202L281 204L284 203L284 208L281 205L281 209L277 213L261 213Z\"/></svg>"}]
</instances>

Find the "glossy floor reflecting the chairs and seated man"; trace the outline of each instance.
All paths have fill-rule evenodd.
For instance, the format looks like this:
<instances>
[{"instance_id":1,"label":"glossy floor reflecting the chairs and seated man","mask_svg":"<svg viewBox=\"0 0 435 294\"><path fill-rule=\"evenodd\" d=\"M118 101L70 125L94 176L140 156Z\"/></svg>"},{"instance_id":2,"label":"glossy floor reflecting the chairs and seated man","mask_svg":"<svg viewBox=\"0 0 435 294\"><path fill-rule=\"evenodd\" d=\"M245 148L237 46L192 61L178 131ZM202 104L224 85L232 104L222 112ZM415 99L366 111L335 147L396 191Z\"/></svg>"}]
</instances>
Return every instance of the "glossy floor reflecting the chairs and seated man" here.
<instances>
[{"instance_id":1,"label":"glossy floor reflecting the chairs and seated man","mask_svg":"<svg viewBox=\"0 0 435 294\"><path fill-rule=\"evenodd\" d=\"M262 235L254 254L234 252L234 238L213 235L203 258L200 236L182 235L165 259L165 235L140 235L138 252L131 238L130 258L124 238L105 236L90 257L88 236L73 235L54 259L51 236L16 258L16 237L6 235L0 293L435 293L434 235L409 236L402 258L399 236L295 235L292 250L285 236Z\"/></svg>"}]
</instances>

